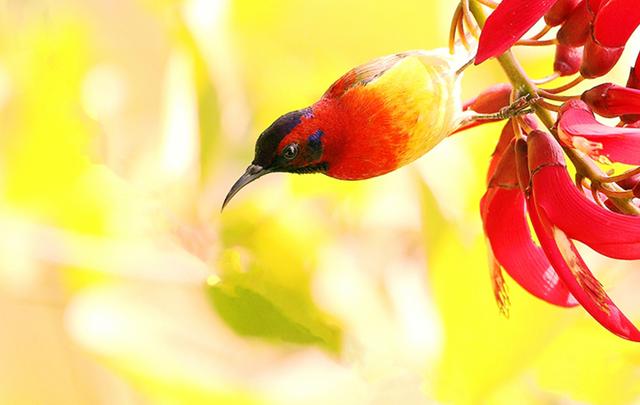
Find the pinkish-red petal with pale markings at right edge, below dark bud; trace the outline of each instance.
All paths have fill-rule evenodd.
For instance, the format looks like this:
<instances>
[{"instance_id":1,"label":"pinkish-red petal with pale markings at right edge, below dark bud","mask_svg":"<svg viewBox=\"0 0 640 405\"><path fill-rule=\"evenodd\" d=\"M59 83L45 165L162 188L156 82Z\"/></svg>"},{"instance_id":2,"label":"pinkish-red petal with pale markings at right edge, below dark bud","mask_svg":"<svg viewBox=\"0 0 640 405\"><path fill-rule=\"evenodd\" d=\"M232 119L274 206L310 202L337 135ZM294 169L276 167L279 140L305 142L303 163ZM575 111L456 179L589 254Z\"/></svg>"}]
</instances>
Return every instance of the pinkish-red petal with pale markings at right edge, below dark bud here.
<instances>
[{"instance_id":1,"label":"pinkish-red petal with pale markings at right edge, below dark bud","mask_svg":"<svg viewBox=\"0 0 640 405\"><path fill-rule=\"evenodd\" d=\"M601 124L582 101L566 103L557 125L566 146L593 158L604 156L614 162L640 164L640 129Z\"/></svg>"}]
</instances>

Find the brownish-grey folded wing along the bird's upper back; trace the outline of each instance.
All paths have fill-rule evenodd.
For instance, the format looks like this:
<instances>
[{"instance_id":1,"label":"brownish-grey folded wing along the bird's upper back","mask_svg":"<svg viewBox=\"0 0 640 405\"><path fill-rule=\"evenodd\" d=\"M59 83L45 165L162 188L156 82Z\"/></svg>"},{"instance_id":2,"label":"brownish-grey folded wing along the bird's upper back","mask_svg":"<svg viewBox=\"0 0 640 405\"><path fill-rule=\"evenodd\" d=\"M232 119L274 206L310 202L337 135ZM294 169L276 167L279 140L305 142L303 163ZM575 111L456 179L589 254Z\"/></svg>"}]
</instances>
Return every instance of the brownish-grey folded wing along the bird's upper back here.
<instances>
[{"instance_id":1,"label":"brownish-grey folded wing along the bird's upper back","mask_svg":"<svg viewBox=\"0 0 640 405\"><path fill-rule=\"evenodd\" d=\"M412 54L414 54L414 52L403 52L383 56L364 65L355 67L333 83L324 93L323 98L338 98L354 87L366 86L367 83L370 83L376 78L382 76L396 63L407 56L411 56Z\"/></svg>"}]
</instances>

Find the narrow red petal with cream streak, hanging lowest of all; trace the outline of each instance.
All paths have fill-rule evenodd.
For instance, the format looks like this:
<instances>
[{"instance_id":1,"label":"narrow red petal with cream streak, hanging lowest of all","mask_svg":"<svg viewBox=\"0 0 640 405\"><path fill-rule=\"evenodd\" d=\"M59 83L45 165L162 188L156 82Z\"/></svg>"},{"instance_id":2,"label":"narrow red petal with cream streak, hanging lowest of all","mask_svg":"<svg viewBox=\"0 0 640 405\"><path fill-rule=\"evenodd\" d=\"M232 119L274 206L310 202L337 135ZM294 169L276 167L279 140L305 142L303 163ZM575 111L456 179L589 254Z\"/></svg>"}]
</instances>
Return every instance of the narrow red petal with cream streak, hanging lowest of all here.
<instances>
[{"instance_id":1,"label":"narrow red petal with cream streak, hanging lowest of all","mask_svg":"<svg viewBox=\"0 0 640 405\"><path fill-rule=\"evenodd\" d=\"M607 296L567 235L552 225L544 210L535 209L537 202L534 196L527 204L531 223L542 249L571 294L602 326L622 338L640 341L640 331Z\"/></svg>"}]
</instances>

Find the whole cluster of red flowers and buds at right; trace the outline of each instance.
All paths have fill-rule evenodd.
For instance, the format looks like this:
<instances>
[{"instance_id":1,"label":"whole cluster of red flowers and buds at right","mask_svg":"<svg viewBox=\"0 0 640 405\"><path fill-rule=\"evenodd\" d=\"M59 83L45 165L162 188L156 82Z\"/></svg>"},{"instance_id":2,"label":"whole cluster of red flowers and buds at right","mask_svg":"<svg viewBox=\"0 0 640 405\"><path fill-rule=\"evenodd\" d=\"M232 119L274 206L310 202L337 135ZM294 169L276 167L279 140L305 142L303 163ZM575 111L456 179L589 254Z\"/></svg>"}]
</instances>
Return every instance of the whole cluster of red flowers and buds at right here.
<instances>
[{"instance_id":1,"label":"whole cluster of red flowers and buds at right","mask_svg":"<svg viewBox=\"0 0 640 405\"><path fill-rule=\"evenodd\" d=\"M512 46L552 45L554 74L546 81L577 74L568 84L546 89L524 74L510 77L520 93L494 86L467 104L497 111L526 88L539 96L535 112L546 124L542 127L533 114L512 118L491 159L480 208L496 298L506 306L504 269L534 296L562 307L582 305L611 332L640 341L640 331L612 302L574 244L615 259L640 259L640 55L625 86L604 83L580 95L564 94L618 63L640 24L637 0L477 1L495 10L480 33L476 64ZM523 40L542 19L544 29ZM548 33L555 37L544 39ZM598 116L619 118L619 123L607 125ZM605 174L601 166L612 162L636 167Z\"/></svg>"}]
</instances>

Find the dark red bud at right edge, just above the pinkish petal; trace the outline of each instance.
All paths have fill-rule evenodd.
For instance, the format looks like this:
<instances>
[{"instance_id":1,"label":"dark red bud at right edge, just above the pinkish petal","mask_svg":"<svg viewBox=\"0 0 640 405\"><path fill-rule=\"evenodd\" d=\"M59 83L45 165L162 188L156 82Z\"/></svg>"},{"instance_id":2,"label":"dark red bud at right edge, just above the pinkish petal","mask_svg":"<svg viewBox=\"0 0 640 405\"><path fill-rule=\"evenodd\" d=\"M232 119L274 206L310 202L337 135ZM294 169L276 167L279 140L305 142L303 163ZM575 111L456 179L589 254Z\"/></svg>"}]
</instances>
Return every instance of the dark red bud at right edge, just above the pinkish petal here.
<instances>
[{"instance_id":1,"label":"dark red bud at right edge, just above the pinkish petal","mask_svg":"<svg viewBox=\"0 0 640 405\"><path fill-rule=\"evenodd\" d=\"M603 83L582 93L582 101L599 115L614 118L640 114L640 90ZM632 120L633 121L633 120Z\"/></svg>"}]
</instances>

